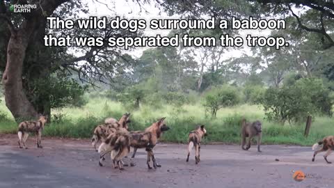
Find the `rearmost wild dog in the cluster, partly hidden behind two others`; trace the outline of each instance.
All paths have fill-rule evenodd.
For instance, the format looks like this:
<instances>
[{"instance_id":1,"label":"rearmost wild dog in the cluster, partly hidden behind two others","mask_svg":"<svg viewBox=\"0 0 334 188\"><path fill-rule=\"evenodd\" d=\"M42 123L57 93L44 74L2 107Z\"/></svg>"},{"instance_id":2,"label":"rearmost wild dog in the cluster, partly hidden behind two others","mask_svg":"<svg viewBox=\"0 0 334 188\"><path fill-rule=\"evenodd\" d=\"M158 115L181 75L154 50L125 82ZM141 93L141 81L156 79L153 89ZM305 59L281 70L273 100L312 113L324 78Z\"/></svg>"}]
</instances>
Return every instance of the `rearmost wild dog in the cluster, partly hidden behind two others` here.
<instances>
[{"instance_id":1,"label":"rearmost wild dog in the cluster, partly hidden behind two others","mask_svg":"<svg viewBox=\"0 0 334 188\"><path fill-rule=\"evenodd\" d=\"M108 119L111 118L107 118L105 120L105 122L109 122L109 123L104 123L102 125L97 125L97 127L95 127L95 130L93 132L93 138L92 138L92 145L95 149L95 151L97 151L96 149L96 145L97 143L99 143L99 141L104 141L104 139L106 139L106 137L109 135L109 129L114 127L114 128L125 128L126 130L129 129L128 123L130 123L131 121L129 120L129 116L130 113L125 113L119 121L116 121L114 123L112 123L111 120L107 121Z\"/></svg>"}]
</instances>

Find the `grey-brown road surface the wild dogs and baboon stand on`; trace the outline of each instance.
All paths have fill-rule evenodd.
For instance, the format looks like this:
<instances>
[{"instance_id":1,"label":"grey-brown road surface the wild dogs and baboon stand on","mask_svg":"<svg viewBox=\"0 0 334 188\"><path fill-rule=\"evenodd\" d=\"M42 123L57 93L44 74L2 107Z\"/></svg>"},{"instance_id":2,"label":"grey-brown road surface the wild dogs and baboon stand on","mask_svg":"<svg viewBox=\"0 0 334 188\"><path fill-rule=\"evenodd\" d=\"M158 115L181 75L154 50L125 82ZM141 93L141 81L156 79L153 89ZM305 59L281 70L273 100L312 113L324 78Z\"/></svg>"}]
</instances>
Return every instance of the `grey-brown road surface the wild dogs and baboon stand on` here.
<instances>
[{"instance_id":1,"label":"grey-brown road surface the wild dogs and baboon stand on","mask_svg":"<svg viewBox=\"0 0 334 188\"><path fill-rule=\"evenodd\" d=\"M188 163L186 146L159 144L154 148L159 169L148 170L145 150L138 150L136 166L120 173L89 140L43 138L43 149L30 137L28 150L17 147L16 135L0 135L0 187L333 187L334 165L323 154L311 162L312 150L299 146L263 146L244 151L239 146L202 145L201 162ZM279 159L279 161L276 161ZM328 157L334 162L334 155ZM127 162L128 159L125 159ZM305 180L293 180L301 170Z\"/></svg>"}]
</instances>

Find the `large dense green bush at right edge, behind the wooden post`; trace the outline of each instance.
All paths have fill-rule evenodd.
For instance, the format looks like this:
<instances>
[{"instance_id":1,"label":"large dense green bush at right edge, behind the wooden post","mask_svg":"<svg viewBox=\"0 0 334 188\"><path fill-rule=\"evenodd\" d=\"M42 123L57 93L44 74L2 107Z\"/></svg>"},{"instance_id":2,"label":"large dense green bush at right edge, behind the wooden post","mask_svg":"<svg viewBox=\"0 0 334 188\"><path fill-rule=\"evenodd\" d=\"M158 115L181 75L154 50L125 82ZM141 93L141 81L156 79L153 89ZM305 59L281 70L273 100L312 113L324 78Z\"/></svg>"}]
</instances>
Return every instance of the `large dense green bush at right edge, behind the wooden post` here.
<instances>
[{"instance_id":1,"label":"large dense green bush at right edge, behind the wooden post","mask_svg":"<svg viewBox=\"0 0 334 188\"><path fill-rule=\"evenodd\" d=\"M333 101L321 79L299 79L292 86L267 89L260 104L268 120L291 123L318 113L330 115Z\"/></svg>"}]
</instances>

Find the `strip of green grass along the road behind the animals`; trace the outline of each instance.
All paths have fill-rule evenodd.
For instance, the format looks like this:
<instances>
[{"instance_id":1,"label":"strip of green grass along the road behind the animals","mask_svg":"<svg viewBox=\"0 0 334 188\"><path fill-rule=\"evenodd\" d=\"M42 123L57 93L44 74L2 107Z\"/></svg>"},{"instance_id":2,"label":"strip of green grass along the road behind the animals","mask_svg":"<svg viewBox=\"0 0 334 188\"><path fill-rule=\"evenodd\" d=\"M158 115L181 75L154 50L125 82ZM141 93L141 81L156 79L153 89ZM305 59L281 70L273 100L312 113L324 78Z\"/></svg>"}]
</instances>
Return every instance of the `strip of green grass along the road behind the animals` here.
<instances>
[{"instance_id":1,"label":"strip of green grass along the road behind the animals","mask_svg":"<svg viewBox=\"0 0 334 188\"><path fill-rule=\"evenodd\" d=\"M0 132L17 132L17 123L10 112L0 103ZM60 136L66 138L90 138L93 129L104 121L106 117L120 118L127 110L119 102L113 102L106 98L95 97L82 108L65 108L52 111L53 114L63 114L63 118L57 122L49 123L45 127L43 135ZM164 105L159 108L143 106L138 111L132 112L130 130L143 130L151 125L154 120L166 118L166 124L170 130L162 137L163 141L184 143L187 136L196 125L204 124L208 136L206 143L240 143L240 120L246 117L248 120L262 120L263 138L265 144L296 144L310 146L324 136L334 134L333 120L328 117L315 117L308 138L303 136L304 124L280 125L264 120L264 112L255 105L242 104L237 107L221 109L216 119L206 118L203 107L200 104L187 104L183 107ZM6 116L6 117L5 117Z\"/></svg>"}]
</instances>

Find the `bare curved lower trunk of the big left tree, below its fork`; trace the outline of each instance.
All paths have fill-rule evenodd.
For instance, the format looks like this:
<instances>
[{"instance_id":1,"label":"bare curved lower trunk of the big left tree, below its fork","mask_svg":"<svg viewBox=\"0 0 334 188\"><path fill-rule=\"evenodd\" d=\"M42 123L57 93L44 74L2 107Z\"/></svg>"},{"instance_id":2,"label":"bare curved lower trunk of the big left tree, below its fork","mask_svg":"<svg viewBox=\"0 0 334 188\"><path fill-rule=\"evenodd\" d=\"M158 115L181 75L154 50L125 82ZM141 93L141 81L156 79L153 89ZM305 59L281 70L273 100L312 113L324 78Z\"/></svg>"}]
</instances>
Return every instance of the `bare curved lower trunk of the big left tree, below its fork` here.
<instances>
[{"instance_id":1,"label":"bare curved lower trunk of the big left tree, below its fork","mask_svg":"<svg viewBox=\"0 0 334 188\"><path fill-rule=\"evenodd\" d=\"M6 106L15 120L33 118L38 115L29 102L22 86L22 69L26 47L33 32L34 23L22 23L22 28L12 31L7 46L6 70L3 72L3 86Z\"/></svg>"}]
</instances>

